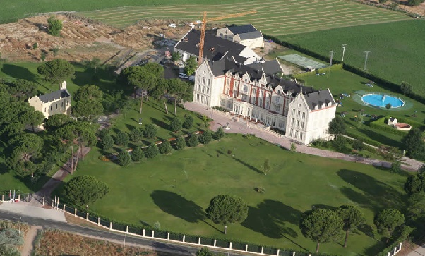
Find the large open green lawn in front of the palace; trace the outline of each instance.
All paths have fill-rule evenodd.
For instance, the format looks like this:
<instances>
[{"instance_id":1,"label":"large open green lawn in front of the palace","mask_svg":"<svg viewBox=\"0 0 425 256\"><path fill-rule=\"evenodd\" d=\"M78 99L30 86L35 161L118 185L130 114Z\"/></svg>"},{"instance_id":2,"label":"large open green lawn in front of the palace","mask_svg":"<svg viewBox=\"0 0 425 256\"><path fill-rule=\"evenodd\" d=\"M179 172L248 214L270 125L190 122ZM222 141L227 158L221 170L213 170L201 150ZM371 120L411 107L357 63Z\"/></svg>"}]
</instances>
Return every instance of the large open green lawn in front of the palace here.
<instances>
[{"instance_id":1,"label":"large open green lawn in front of the palace","mask_svg":"<svg viewBox=\"0 0 425 256\"><path fill-rule=\"evenodd\" d=\"M321 245L321 252L376 255L385 244L376 234L373 214L385 207L401 209L407 197L402 191L406 174L293 153L241 135L126 167L102 162L100 154L92 150L74 175L96 176L109 185L109 193L90 204L91 210L128 223L159 221L170 231L278 248L313 251L315 244L299 231L301 213L312 207L354 204L366 215L367 225L350 236L348 248L342 248L340 240ZM261 173L265 159L271 166L267 176ZM265 188L265 193L257 193L257 187ZM230 225L226 236L222 226L203 214L210 199L219 194L237 195L249 204L248 219Z\"/></svg>"}]
</instances>

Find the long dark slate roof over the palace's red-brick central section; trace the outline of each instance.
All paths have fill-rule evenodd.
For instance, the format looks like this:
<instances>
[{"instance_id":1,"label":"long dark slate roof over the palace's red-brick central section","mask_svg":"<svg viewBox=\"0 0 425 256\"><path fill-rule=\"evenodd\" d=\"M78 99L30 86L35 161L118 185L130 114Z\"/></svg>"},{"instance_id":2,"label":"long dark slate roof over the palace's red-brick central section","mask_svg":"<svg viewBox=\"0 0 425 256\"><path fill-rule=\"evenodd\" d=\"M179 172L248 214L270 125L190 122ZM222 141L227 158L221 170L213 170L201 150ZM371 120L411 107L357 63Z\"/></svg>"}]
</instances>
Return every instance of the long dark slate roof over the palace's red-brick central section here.
<instances>
[{"instance_id":1,"label":"long dark slate roof over the palace's red-brick central section","mask_svg":"<svg viewBox=\"0 0 425 256\"><path fill-rule=\"evenodd\" d=\"M293 96L301 92L301 85L298 85L294 81L278 78L273 74L268 74L264 71L252 68L251 66L235 63L230 59L208 61L208 66L210 66L211 71L213 71L215 76L224 75L227 73L227 71L230 71L232 74L239 73L240 76L248 73L251 77L251 80L259 80L263 73L265 73L267 85L272 85L273 88L275 88L277 85L280 85L282 86L282 89L285 93L289 92ZM312 87L302 87L302 92L316 92L316 90L314 90Z\"/></svg>"}]
</instances>

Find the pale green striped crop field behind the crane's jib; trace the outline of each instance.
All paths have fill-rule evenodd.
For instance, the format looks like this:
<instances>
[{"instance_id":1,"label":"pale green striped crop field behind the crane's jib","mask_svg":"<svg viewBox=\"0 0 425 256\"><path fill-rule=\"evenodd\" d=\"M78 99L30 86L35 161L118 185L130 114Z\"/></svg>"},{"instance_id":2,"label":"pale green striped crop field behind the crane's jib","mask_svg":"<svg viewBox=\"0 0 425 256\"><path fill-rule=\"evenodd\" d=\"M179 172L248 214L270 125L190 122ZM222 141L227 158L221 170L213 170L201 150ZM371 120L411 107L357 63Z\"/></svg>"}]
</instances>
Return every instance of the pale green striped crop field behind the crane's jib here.
<instances>
[{"instance_id":1,"label":"pale green striped crop field behind the crane's jib","mask_svg":"<svg viewBox=\"0 0 425 256\"><path fill-rule=\"evenodd\" d=\"M125 27L136 23L138 20L152 18L200 20L203 11L208 11L208 17L213 18L232 14L234 10L238 10L238 12L256 10L257 13L253 15L225 19L222 22L252 23L261 32L270 35L287 35L352 25L386 23L409 18L402 13L338 0L259 0L251 4L246 4L246 1L229 2L228 4L210 3L211 1L206 1L205 4L131 6L81 12L78 15L100 20L117 27Z\"/></svg>"}]
</instances>

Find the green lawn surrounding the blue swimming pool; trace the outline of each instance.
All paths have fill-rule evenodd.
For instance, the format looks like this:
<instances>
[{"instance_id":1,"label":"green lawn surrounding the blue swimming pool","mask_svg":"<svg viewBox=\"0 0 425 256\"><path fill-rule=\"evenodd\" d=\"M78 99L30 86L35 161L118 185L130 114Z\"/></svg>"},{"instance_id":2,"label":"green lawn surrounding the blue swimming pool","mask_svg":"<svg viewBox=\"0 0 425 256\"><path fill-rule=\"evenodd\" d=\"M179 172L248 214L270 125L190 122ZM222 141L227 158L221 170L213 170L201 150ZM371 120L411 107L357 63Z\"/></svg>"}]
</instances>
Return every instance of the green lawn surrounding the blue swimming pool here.
<instances>
[{"instance_id":1,"label":"green lawn surrounding the blue swimming pool","mask_svg":"<svg viewBox=\"0 0 425 256\"><path fill-rule=\"evenodd\" d=\"M341 99L343 106L337 107L337 115L343 111L346 111L345 121L347 123L347 128L350 133L359 134L362 136L366 136L371 140L376 140L377 142L392 145L395 147L401 147L401 139L402 136L395 135L393 133L388 133L382 130L376 130L368 126L370 118L364 117L365 124L360 128L357 127L357 122L354 121L354 116L359 114L359 109L364 109L364 114L375 114L376 116L394 116L398 118L406 118L408 120L414 122L424 122L425 120L425 106L419 102L410 99L404 95L397 94L395 92L391 92L389 90L384 89L383 87L379 87L379 85L375 85L374 87L368 87L365 83L368 82L366 78L362 78L359 75L354 75L349 73L348 71L340 70L340 71L331 71L330 74L326 75L315 75L311 74L309 76L303 76L300 79L305 80L306 86L313 86L315 89L325 89L327 87L330 88L330 92L332 92L335 99L339 99L338 95L341 93L347 93L351 95L351 97L345 97L345 99ZM359 104L360 96L355 92L357 91L365 91L365 92L383 92L386 95L393 95L396 97L400 97L402 100L406 102L405 106L402 106L398 109L390 109L387 111L386 109L378 109L376 107L372 107L366 104ZM354 100L357 99L357 100ZM414 113L417 111L417 113ZM416 114L416 118L412 118L412 115Z\"/></svg>"}]
</instances>

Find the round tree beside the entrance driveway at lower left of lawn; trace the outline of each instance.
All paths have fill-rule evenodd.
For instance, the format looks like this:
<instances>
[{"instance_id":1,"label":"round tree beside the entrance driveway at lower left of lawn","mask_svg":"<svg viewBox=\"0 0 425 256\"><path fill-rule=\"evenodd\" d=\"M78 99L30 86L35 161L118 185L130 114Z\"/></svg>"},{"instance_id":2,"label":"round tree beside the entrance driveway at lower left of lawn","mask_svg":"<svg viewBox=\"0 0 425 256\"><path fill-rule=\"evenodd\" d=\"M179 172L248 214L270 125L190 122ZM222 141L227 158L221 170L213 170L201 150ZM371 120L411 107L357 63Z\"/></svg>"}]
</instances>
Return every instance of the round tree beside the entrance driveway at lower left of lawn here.
<instances>
[{"instance_id":1,"label":"round tree beside the entrance driveway at lower left of lawn","mask_svg":"<svg viewBox=\"0 0 425 256\"><path fill-rule=\"evenodd\" d=\"M66 198L74 205L79 206L95 202L108 192L108 185L92 176L72 178L64 185Z\"/></svg>"}]
</instances>

